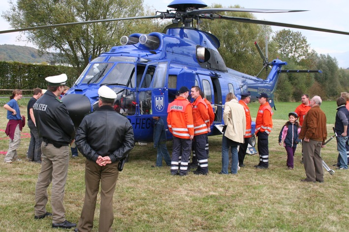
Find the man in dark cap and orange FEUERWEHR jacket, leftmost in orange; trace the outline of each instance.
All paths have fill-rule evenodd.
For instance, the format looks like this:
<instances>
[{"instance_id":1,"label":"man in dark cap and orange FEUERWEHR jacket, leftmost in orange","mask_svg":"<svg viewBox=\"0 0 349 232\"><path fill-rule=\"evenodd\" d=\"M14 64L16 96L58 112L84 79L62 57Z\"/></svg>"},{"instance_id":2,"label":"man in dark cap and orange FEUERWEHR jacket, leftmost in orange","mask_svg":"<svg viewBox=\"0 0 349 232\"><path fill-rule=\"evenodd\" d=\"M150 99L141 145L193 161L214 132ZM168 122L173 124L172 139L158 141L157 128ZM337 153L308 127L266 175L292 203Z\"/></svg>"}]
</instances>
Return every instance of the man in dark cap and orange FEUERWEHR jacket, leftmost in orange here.
<instances>
[{"instance_id":1,"label":"man in dark cap and orange FEUERWEHR jacket, leftmost in orange","mask_svg":"<svg viewBox=\"0 0 349 232\"><path fill-rule=\"evenodd\" d=\"M177 91L177 97L167 109L167 126L173 135L171 175L188 175L188 160L194 138L192 106L187 98L189 89L185 86ZM179 164L179 156L181 162ZM179 168L179 173L178 173Z\"/></svg>"}]
</instances>

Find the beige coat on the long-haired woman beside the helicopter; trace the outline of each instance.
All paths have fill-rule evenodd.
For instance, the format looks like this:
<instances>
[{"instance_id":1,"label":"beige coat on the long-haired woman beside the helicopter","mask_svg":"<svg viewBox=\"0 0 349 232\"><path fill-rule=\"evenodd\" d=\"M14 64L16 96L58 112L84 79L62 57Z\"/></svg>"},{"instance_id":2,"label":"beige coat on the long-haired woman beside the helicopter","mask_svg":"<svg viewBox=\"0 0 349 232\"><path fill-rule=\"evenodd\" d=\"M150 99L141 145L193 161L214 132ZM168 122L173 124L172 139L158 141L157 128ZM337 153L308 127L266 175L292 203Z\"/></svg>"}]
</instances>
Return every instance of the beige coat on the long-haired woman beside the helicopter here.
<instances>
[{"instance_id":1,"label":"beige coat on the long-haired woman beside the helicopter","mask_svg":"<svg viewBox=\"0 0 349 232\"><path fill-rule=\"evenodd\" d=\"M224 104L224 124L227 125L225 136L235 142L244 143L246 115L244 107L235 99Z\"/></svg>"}]
</instances>

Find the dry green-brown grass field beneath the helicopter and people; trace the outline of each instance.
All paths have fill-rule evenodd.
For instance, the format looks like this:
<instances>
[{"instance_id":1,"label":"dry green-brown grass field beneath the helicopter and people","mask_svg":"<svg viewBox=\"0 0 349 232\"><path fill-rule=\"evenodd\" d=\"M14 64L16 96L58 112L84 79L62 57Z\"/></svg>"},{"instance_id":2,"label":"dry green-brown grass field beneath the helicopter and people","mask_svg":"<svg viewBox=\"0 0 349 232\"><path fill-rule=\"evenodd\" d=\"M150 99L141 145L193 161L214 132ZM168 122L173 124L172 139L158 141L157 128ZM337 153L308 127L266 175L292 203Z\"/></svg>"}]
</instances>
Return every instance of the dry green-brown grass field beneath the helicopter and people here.
<instances>
[{"instance_id":1,"label":"dry green-brown grass field beneath the helicopter and people","mask_svg":"<svg viewBox=\"0 0 349 232\"><path fill-rule=\"evenodd\" d=\"M21 100L21 113L27 115ZM1 105L5 103L0 102ZM288 113L299 103L276 103L274 128L269 138L269 169L256 170L258 155L246 155L246 167L238 175L218 175L221 170L222 136L209 137L209 175L173 177L170 169L151 168L156 151L152 144L136 145L130 160L119 174L114 195L114 231L124 232L337 232L348 231L349 171L324 171L324 183L303 183L305 172L300 163L300 147L294 158L294 169L286 167L286 151L278 145L281 127ZM252 116L258 103L250 105ZM336 113L335 102L324 102L327 131ZM0 109L0 129L6 127L6 111ZM8 138L0 134L0 152L7 151ZM328 138L329 138L328 136ZM22 131L20 157L25 160L29 145L29 128ZM168 142L171 153L172 143ZM337 160L335 140L322 149L328 165ZM4 155L2 155L2 158ZM2 160L1 160L2 161ZM69 162L64 205L66 218L78 222L84 200L84 161L81 155ZM332 167L332 166L331 166ZM52 220L34 220L34 191L40 165L27 161L0 162L0 231L48 232ZM50 195L50 192L49 192ZM99 199L97 200L97 202ZM50 204L47 210L52 212ZM94 231L98 228L99 205Z\"/></svg>"}]
</instances>

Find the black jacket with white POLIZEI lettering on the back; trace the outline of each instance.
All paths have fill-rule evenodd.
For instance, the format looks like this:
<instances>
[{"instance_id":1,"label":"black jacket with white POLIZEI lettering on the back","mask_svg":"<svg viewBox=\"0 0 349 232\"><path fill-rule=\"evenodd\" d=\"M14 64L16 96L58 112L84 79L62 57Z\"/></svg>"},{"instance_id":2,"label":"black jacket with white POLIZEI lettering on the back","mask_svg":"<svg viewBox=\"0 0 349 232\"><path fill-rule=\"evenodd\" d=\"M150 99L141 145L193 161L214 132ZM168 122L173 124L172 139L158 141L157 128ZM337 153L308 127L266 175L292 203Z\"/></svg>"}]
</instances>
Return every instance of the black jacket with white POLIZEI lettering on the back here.
<instances>
[{"instance_id":1,"label":"black jacket with white POLIZEI lettering on the back","mask_svg":"<svg viewBox=\"0 0 349 232\"><path fill-rule=\"evenodd\" d=\"M64 103L51 91L46 91L33 105L39 137L56 147L68 146L75 137L74 123Z\"/></svg>"}]
</instances>

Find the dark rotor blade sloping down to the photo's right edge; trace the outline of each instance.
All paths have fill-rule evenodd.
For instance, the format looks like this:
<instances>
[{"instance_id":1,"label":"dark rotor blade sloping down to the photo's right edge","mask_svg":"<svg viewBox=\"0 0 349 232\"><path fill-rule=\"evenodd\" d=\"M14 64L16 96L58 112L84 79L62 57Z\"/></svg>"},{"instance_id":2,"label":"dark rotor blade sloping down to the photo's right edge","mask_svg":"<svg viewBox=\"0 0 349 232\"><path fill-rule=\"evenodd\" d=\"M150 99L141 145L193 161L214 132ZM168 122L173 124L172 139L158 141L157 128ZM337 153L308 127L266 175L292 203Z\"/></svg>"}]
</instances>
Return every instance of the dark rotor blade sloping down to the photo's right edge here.
<instances>
[{"instance_id":1,"label":"dark rotor blade sloping down to the photo's right edge","mask_svg":"<svg viewBox=\"0 0 349 232\"><path fill-rule=\"evenodd\" d=\"M219 18L219 19L226 19L226 20L231 20L231 21L241 22L241 23L248 23L248 24L283 26L283 27L290 27L290 28L297 28L297 29L315 30L315 31L322 31L322 32L328 32L328 33L334 33L334 34L349 35L349 32L347 31L331 30L331 29L325 29L325 28L313 27L313 26L301 26L301 25L295 25L295 24L278 23L278 22L272 22L272 21L264 21L264 20L224 16L224 15L210 15L209 17L211 17L210 19ZM208 16L202 15L200 18L207 19Z\"/></svg>"}]
</instances>

